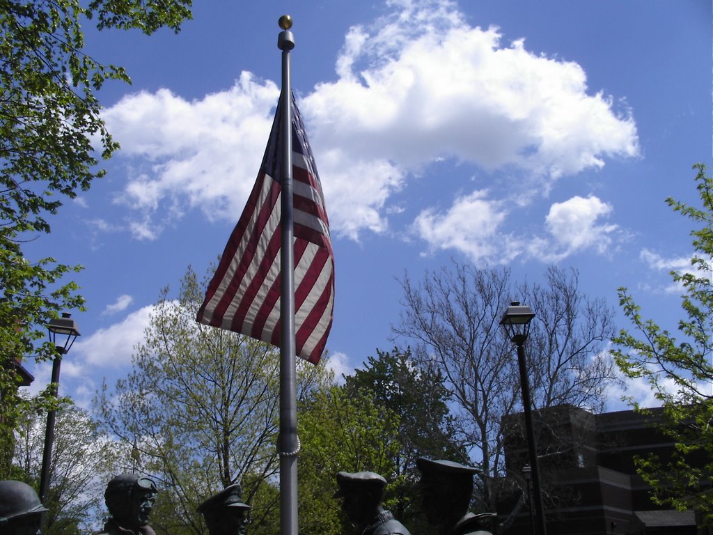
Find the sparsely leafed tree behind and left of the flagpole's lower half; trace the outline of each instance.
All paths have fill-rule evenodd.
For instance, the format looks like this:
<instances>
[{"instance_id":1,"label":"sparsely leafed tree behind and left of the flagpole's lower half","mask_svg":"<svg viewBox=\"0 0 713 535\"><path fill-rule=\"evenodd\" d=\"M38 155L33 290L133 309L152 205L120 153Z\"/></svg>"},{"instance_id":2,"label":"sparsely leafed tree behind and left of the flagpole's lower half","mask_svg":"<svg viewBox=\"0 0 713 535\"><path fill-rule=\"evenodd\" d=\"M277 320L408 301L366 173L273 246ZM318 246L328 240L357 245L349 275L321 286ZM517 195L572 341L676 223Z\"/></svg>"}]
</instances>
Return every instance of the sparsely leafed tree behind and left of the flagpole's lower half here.
<instances>
[{"instance_id":1,"label":"sparsely leafed tree behind and left of the flagpole's lower half","mask_svg":"<svg viewBox=\"0 0 713 535\"><path fill-rule=\"evenodd\" d=\"M207 496L239 482L250 504L278 469L279 354L196 322L202 287L189 268L177 299L160 293L132 371L96 399L101 421L135 447L138 470L158 479L157 533L205 533L195 509ZM299 395L323 378L323 367L300 364Z\"/></svg>"}]
</instances>

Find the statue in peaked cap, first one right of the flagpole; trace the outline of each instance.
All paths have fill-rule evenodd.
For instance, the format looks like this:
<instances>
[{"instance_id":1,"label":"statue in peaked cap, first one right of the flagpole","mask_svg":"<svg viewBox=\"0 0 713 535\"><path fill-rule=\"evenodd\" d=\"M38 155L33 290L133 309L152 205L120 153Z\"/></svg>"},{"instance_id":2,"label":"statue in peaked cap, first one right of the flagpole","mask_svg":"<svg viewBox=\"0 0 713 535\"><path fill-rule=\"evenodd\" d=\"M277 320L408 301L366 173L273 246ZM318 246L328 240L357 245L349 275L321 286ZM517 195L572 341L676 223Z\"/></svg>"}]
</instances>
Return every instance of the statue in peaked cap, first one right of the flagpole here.
<instances>
[{"instance_id":1,"label":"statue in peaked cap, first one right of the flagpole","mask_svg":"<svg viewBox=\"0 0 713 535\"><path fill-rule=\"evenodd\" d=\"M386 479L374 472L339 472L339 490L335 498L343 498L342 511L360 535L411 535L404 524L381 506Z\"/></svg>"}]
</instances>

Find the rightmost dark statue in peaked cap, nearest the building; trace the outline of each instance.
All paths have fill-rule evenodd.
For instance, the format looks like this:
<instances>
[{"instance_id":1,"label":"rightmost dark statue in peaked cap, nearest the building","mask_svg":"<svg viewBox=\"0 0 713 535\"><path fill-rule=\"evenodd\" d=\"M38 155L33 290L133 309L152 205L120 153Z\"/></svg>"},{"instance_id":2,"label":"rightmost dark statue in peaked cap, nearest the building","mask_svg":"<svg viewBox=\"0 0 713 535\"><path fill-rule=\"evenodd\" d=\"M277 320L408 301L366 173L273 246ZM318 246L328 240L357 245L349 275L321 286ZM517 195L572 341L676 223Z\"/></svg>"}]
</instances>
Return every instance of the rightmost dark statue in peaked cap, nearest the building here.
<instances>
[{"instance_id":1,"label":"rightmost dark statue in peaked cap, nearest the building","mask_svg":"<svg viewBox=\"0 0 713 535\"><path fill-rule=\"evenodd\" d=\"M418 487L429 524L439 535L491 535L483 523L493 514L468 512L473 476L478 469L453 461L416 459L421 472Z\"/></svg>"}]
</instances>

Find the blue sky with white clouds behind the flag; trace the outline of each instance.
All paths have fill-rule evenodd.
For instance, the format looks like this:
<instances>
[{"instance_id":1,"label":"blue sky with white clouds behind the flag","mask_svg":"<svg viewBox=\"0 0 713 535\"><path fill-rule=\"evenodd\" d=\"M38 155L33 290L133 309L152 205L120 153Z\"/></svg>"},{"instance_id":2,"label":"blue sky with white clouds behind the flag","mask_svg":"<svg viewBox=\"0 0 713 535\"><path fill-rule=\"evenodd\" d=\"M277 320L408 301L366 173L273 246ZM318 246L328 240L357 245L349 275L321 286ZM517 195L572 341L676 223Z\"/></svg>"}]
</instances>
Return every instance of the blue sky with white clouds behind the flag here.
<instances>
[{"instance_id":1,"label":"blue sky with white clouds behind the flag","mask_svg":"<svg viewBox=\"0 0 713 535\"><path fill-rule=\"evenodd\" d=\"M133 85L99 95L122 146L108 174L29 249L86 267L62 394L86 406L125 375L160 288L222 252L270 131L282 14L332 225L339 372L393 347L404 270L451 259L520 281L575 267L591 297L627 286L675 327L667 272L691 228L665 198L696 202L691 166L711 160L710 1L195 4L178 35L87 30ZM31 372L41 389L51 366Z\"/></svg>"}]
</instances>

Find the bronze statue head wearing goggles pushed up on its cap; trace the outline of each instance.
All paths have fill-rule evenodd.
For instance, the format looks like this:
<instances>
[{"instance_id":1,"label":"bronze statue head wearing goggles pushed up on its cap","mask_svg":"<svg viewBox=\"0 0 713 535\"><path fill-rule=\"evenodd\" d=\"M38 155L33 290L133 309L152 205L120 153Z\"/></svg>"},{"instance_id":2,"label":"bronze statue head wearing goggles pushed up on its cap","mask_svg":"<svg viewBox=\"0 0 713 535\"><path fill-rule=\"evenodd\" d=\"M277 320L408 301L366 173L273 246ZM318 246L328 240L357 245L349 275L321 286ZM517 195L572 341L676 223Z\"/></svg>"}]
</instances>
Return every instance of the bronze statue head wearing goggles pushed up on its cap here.
<instances>
[{"instance_id":1,"label":"bronze statue head wearing goggles pushed up on its cap","mask_svg":"<svg viewBox=\"0 0 713 535\"><path fill-rule=\"evenodd\" d=\"M104 501L111 518L99 535L155 535L148 516L156 499L156 484L148 477L120 474L106 486Z\"/></svg>"}]
</instances>

